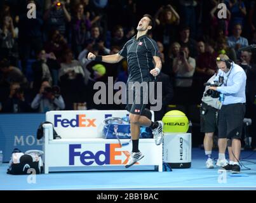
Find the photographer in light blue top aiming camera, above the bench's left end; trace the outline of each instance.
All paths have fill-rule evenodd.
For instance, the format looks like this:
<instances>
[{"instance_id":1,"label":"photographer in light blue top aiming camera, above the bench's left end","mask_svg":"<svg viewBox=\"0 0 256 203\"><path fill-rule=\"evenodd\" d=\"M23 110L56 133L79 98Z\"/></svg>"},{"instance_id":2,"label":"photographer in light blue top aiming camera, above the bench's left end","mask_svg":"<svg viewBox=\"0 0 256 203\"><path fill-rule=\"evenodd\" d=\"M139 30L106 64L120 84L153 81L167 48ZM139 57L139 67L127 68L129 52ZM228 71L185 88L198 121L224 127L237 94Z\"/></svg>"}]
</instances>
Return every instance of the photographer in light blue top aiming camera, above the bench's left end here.
<instances>
[{"instance_id":1,"label":"photographer in light blue top aiming camera, above the bench's left end","mask_svg":"<svg viewBox=\"0 0 256 203\"><path fill-rule=\"evenodd\" d=\"M43 81L41 89L31 103L33 109L38 108L38 112L45 113L50 110L64 110L65 103L61 95L60 89L55 86L51 88L48 81Z\"/></svg>"}]
</instances>

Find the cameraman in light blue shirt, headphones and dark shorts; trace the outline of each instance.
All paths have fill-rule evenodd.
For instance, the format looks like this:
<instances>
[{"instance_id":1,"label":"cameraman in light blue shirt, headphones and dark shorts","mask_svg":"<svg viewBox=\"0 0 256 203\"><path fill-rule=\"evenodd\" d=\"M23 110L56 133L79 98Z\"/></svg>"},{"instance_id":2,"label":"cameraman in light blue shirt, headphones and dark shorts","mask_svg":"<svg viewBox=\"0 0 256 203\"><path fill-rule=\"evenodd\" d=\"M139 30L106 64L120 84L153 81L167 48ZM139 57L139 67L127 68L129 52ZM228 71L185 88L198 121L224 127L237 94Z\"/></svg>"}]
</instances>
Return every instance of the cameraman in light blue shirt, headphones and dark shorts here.
<instances>
[{"instance_id":1,"label":"cameraman in light blue shirt, headphones and dark shorts","mask_svg":"<svg viewBox=\"0 0 256 203\"><path fill-rule=\"evenodd\" d=\"M219 77L224 77L222 86L209 88L219 91L222 101L218 124L219 159L217 166L232 173L240 173L239 156L245 115L246 74L239 65L231 62L227 55L219 55L216 63L220 70L215 81L219 81ZM225 157L226 148L229 150L229 163Z\"/></svg>"}]
</instances>

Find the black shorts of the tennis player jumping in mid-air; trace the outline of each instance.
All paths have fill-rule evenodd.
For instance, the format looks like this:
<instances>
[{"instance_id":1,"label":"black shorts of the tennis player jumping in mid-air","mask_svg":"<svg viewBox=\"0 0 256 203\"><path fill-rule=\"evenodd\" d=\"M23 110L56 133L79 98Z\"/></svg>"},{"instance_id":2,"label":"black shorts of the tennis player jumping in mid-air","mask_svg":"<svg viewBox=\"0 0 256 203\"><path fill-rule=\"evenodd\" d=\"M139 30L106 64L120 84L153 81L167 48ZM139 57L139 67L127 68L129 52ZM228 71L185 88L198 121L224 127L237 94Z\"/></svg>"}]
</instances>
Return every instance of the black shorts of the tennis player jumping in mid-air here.
<instances>
[{"instance_id":1,"label":"black shorts of the tennis player jumping in mid-air","mask_svg":"<svg viewBox=\"0 0 256 203\"><path fill-rule=\"evenodd\" d=\"M141 84L141 82L139 83ZM144 83L145 84L145 83ZM126 84L126 110L131 114L141 115L149 105L149 82L143 87L135 88Z\"/></svg>"}]
</instances>

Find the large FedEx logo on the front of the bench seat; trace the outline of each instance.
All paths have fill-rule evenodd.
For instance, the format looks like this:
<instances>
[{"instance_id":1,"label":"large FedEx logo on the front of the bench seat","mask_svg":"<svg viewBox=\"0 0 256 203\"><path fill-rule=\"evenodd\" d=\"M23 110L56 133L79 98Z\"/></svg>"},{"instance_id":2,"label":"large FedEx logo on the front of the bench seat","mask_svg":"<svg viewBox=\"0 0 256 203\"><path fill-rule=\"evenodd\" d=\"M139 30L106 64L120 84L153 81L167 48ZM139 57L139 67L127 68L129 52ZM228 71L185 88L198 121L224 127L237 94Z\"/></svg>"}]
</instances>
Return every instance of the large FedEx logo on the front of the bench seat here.
<instances>
[{"instance_id":1,"label":"large FedEx logo on the front of the bench seat","mask_svg":"<svg viewBox=\"0 0 256 203\"><path fill-rule=\"evenodd\" d=\"M112 164L126 164L130 157L128 151L118 151L121 148L119 144L105 144L104 151L98 151L95 154L89 150L81 152L81 144L69 145L69 165L75 165L75 157L79 157L80 162L85 166L90 166L94 162L98 166ZM116 156L125 155L125 160L117 159ZM138 164L138 163L137 163Z\"/></svg>"}]
</instances>

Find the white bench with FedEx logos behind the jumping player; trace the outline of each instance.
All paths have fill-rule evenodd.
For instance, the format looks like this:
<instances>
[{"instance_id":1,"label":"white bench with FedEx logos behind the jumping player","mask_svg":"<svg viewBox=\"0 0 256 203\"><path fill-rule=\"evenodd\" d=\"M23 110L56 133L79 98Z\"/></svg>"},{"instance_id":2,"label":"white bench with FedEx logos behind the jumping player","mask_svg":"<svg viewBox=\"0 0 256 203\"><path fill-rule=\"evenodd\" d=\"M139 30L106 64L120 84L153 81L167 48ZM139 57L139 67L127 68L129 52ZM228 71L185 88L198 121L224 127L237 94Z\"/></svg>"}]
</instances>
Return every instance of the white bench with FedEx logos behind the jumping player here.
<instances>
[{"instance_id":1,"label":"white bench with FedEx logos behind the jumping player","mask_svg":"<svg viewBox=\"0 0 256 203\"><path fill-rule=\"evenodd\" d=\"M105 117L125 117L126 110L51 111L46 121L62 139L53 139L53 126L44 124L44 173L55 171L112 171L143 169L145 166L163 171L163 146L154 139L140 139L139 149L145 155L126 169L131 143L121 147L116 139L104 139ZM128 142L130 140L121 140Z\"/></svg>"}]
</instances>

